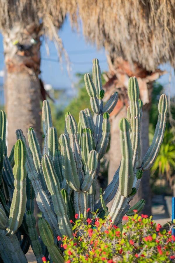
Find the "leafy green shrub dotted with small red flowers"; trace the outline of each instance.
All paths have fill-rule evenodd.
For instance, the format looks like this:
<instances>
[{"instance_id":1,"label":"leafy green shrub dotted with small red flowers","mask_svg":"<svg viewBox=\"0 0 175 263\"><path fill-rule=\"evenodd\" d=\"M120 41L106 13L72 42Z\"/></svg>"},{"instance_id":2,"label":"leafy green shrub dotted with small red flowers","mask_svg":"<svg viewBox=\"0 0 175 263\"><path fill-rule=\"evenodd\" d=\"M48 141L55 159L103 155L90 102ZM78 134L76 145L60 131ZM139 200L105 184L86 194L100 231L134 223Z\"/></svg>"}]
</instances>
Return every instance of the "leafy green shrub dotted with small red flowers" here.
<instances>
[{"instance_id":1,"label":"leafy green shrub dotted with small red flowers","mask_svg":"<svg viewBox=\"0 0 175 263\"><path fill-rule=\"evenodd\" d=\"M81 215L74 223L73 238L58 236L65 262L175 262L174 223L166 230L152 217L134 213L123 217L127 220L123 226L99 219L95 213L91 219Z\"/></svg>"}]
</instances>

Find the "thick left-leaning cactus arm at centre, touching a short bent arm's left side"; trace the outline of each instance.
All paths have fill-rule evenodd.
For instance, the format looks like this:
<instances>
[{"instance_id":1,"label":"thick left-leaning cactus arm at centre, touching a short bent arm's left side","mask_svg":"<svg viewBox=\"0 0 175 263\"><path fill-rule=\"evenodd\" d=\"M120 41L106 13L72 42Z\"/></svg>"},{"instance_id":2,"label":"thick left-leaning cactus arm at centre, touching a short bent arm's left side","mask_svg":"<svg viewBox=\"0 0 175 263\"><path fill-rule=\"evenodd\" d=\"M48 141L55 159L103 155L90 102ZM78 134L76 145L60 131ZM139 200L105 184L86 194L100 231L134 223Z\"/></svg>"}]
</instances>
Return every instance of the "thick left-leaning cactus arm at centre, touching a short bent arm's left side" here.
<instances>
[{"instance_id":1,"label":"thick left-leaning cactus arm at centre, touching a short bent arm's left side","mask_svg":"<svg viewBox=\"0 0 175 263\"><path fill-rule=\"evenodd\" d=\"M62 155L62 172L70 188L80 191L80 181L76 169L74 154L69 146L66 134L60 136L61 155Z\"/></svg>"}]
</instances>

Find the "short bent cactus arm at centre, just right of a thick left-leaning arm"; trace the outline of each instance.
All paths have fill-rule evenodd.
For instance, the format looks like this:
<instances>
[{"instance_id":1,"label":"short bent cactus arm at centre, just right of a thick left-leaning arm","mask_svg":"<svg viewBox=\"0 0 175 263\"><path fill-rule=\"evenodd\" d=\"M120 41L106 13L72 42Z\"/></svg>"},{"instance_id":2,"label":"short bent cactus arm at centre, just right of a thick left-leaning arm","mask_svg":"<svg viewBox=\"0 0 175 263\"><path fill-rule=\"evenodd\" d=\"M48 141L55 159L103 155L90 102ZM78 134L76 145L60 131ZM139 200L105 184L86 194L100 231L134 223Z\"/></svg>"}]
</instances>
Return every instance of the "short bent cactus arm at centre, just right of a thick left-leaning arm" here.
<instances>
[{"instance_id":1,"label":"short bent cactus arm at centre, just right of a thick left-leaning arm","mask_svg":"<svg viewBox=\"0 0 175 263\"><path fill-rule=\"evenodd\" d=\"M85 180L81 186L81 191L88 192L90 187L92 186L95 171L98 164L98 154L95 150L91 150L88 156L88 173L85 176Z\"/></svg>"}]
</instances>

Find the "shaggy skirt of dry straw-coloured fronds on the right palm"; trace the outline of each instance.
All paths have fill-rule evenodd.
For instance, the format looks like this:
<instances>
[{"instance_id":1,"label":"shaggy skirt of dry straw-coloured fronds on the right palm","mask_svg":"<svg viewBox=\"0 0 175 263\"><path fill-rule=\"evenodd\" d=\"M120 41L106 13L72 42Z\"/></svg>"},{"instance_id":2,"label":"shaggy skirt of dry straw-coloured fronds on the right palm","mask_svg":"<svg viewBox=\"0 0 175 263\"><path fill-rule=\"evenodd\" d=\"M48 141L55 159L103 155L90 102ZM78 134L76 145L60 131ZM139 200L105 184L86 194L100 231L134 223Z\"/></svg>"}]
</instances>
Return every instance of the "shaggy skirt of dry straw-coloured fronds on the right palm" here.
<instances>
[{"instance_id":1,"label":"shaggy skirt of dry straw-coloured fronds on the right palm","mask_svg":"<svg viewBox=\"0 0 175 263\"><path fill-rule=\"evenodd\" d=\"M152 71L175 67L174 0L76 0L85 38Z\"/></svg>"}]
</instances>

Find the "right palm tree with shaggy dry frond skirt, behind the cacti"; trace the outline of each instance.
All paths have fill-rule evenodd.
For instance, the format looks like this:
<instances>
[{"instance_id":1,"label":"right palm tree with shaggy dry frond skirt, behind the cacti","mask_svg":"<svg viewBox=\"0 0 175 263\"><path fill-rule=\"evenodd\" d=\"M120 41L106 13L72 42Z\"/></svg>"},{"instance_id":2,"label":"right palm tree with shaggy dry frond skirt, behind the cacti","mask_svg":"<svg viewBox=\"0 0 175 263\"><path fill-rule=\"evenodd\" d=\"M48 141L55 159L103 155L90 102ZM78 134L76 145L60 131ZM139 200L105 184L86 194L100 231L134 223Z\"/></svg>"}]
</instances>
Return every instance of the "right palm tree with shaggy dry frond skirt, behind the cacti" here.
<instances>
[{"instance_id":1,"label":"right palm tree with shaggy dry frond skirt, behind the cacti","mask_svg":"<svg viewBox=\"0 0 175 263\"><path fill-rule=\"evenodd\" d=\"M170 62L175 66L175 1L174 0L77 0L77 11L87 41L104 47L108 54L106 96L119 91L120 101L111 115L110 165L108 178L120 165L118 120L126 115L127 83L136 76L143 101L141 127L142 155L148 149L149 106L152 84L161 72L157 67ZM122 95L123 94L123 95ZM136 199L146 199L145 210L151 212L149 172L143 175ZM136 202L134 200L134 203Z\"/></svg>"}]
</instances>

